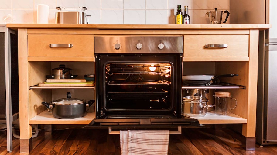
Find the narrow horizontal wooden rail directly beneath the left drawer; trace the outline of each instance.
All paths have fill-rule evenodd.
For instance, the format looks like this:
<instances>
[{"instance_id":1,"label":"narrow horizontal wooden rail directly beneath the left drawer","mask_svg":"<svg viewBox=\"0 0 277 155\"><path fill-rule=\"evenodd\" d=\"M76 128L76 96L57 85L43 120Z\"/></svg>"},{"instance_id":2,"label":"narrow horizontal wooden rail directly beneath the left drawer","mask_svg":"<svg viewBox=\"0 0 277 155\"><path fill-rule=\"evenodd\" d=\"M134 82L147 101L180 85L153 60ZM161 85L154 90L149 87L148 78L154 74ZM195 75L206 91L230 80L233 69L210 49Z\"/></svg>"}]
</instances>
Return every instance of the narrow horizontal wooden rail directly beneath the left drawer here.
<instances>
[{"instance_id":1,"label":"narrow horizontal wooden rail directly beneath the left drawer","mask_svg":"<svg viewBox=\"0 0 277 155\"><path fill-rule=\"evenodd\" d=\"M84 61L84 62L94 62L95 57L28 57L28 61Z\"/></svg>"}]
</instances>

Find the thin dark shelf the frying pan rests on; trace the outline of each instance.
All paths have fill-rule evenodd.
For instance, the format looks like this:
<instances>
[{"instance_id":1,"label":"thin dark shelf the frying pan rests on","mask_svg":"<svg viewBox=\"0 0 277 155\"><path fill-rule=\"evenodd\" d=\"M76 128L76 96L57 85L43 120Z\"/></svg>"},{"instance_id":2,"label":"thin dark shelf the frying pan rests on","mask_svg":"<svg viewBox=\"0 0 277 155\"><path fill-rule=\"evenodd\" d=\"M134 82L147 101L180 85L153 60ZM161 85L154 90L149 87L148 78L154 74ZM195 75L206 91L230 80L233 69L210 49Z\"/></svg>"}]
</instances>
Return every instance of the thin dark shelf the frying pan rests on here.
<instances>
[{"instance_id":1,"label":"thin dark shelf the frying pan rests on","mask_svg":"<svg viewBox=\"0 0 277 155\"><path fill-rule=\"evenodd\" d=\"M205 86L188 86L183 85L182 89L246 89L246 86L235 85L231 83L216 83Z\"/></svg>"}]
</instances>

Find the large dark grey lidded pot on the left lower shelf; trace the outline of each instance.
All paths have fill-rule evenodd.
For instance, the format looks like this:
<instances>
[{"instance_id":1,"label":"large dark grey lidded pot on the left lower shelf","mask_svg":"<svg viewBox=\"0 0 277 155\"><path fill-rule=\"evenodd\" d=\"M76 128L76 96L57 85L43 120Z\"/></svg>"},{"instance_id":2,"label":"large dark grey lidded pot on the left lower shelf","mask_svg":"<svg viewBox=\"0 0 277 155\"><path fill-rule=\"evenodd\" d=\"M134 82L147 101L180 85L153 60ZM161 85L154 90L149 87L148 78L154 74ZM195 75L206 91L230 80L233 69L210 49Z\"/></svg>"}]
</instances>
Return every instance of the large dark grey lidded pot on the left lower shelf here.
<instances>
[{"instance_id":1,"label":"large dark grey lidded pot on the left lower shelf","mask_svg":"<svg viewBox=\"0 0 277 155\"><path fill-rule=\"evenodd\" d=\"M67 98L51 101L50 103L41 102L45 105L53 116L61 119L79 118L85 115L86 107L91 106L95 100L89 100L87 103L83 99L71 98L70 92L67 92Z\"/></svg>"}]
</instances>

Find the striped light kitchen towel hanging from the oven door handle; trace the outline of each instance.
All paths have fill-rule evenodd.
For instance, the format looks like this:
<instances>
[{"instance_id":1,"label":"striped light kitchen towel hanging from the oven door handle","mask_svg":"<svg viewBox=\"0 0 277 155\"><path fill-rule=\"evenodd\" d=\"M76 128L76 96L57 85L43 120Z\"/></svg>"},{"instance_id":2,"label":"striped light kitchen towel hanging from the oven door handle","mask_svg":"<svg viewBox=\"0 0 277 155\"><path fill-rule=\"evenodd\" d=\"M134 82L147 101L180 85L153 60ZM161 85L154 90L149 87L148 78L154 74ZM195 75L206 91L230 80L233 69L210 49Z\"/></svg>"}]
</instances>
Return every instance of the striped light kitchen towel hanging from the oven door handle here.
<instances>
[{"instance_id":1,"label":"striped light kitchen towel hanging from the oven door handle","mask_svg":"<svg viewBox=\"0 0 277 155\"><path fill-rule=\"evenodd\" d=\"M121 130L121 155L167 155L168 130Z\"/></svg>"}]
</instances>

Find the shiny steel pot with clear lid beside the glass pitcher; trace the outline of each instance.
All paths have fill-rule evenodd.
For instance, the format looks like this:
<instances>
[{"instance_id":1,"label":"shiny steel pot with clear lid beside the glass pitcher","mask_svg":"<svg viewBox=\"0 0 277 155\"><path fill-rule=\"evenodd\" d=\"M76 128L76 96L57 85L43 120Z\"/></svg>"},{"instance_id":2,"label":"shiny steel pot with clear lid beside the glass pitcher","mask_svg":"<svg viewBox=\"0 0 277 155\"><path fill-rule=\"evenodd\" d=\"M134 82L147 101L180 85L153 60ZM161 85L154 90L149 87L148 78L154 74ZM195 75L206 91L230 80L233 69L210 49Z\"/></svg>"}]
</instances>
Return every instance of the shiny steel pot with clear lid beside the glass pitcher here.
<instances>
[{"instance_id":1,"label":"shiny steel pot with clear lid beside the glass pitcher","mask_svg":"<svg viewBox=\"0 0 277 155\"><path fill-rule=\"evenodd\" d=\"M185 96L182 98L182 115L188 117L204 117L207 108L214 105L207 105L208 99L200 96Z\"/></svg>"}]
</instances>

